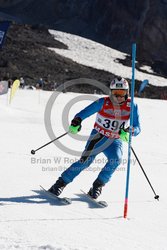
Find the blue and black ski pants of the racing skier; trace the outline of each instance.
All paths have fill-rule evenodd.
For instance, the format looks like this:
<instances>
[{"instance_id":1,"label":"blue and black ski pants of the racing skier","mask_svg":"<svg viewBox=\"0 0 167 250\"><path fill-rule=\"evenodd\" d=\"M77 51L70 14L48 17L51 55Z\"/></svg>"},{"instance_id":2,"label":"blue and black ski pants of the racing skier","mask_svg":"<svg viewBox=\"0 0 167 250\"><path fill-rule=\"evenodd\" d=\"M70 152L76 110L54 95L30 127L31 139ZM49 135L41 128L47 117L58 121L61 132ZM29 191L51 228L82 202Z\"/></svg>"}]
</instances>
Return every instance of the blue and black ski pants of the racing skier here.
<instances>
[{"instance_id":1,"label":"blue and black ski pants of the racing skier","mask_svg":"<svg viewBox=\"0 0 167 250\"><path fill-rule=\"evenodd\" d=\"M99 153L104 153L107 162L97 178L103 184L106 184L122 160L122 141L120 139L109 139L99 134L95 129L91 132L80 160L74 162L62 173L63 180L67 184L72 182L76 176L90 166Z\"/></svg>"}]
</instances>

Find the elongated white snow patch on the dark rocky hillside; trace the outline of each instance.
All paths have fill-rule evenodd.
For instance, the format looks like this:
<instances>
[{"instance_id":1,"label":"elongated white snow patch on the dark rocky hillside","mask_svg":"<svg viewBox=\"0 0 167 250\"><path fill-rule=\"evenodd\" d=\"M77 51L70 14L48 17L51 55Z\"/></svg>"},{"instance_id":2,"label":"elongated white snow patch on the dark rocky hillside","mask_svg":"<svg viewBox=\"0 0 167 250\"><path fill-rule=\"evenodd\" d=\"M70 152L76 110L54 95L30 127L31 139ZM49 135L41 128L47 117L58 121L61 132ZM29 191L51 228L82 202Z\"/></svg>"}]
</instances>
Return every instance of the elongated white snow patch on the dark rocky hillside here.
<instances>
[{"instance_id":1,"label":"elongated white snow patch on the dark rocky hillside","mask_svg":"<svg viewBox=\"0 0 167 250\"><path fill-rule=\"evenodd\" d=\"M68 46L68 50L50 48L57 54L70 58L77 63L105 70L118 76L121 72L122 77L131 78L131 67L118 62L118 59L125 59L127 54L77 35L56 30L49 30L49 32L54 35L56 40ZM149 66L143 66L141 69L150 74L136 70L135 75L137 80L143 81L144 79L148 79L152 85L167 86L167 79L151 74L153 72Z\"/></svg>"}]
</instances>

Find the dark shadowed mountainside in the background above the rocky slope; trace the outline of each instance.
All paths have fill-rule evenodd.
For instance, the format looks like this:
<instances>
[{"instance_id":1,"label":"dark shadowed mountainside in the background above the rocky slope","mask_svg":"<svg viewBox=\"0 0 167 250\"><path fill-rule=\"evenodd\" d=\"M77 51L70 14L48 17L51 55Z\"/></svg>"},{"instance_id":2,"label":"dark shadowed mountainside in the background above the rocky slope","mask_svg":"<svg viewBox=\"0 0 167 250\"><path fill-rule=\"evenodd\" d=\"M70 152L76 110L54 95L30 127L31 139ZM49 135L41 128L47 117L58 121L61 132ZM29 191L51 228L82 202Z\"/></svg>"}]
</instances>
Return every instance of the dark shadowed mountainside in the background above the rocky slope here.
<instances>
[{"instance_id":1,"label":"dark shadowed mountainside in the background above the rocky slope","mask_svg":"<svg viewBox=\"0 0 167 250\"><path fill-rule=\"evenodd\" d=\"M0 0L1 16L91 38L167 76L167 0Z\"/></svg>"}]
</instances>

